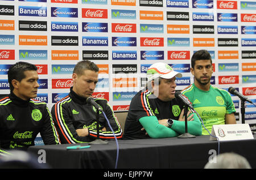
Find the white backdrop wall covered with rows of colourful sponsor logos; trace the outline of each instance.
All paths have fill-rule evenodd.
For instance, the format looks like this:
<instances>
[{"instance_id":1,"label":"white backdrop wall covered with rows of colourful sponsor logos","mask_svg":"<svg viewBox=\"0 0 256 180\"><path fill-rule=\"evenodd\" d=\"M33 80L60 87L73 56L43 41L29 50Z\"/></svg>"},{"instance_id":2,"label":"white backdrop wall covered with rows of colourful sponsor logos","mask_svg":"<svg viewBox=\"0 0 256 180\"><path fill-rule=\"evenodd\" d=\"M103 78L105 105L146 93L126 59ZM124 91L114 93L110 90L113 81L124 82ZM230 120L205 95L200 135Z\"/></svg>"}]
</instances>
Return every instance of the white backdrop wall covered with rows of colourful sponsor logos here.
<instances>
[{"instance_id":1,"label":"white backdrop wall covered with rows of colourful sponsor logos","mask_svg":"<svg viewBox=\"0 0 256 180\"><path fill-rule=\"evenodd\" d=\"M0 0L0 94L9 93L10 65L34 63L36 99L51 109L68 95L76 63L88 59L100 67L93 96L128 110L152 63L183 73L176 80L181 90L193 83L193 53L207 49L211 83L235 87L256 105L255 12L252 0ZM238 120L241 101L232 99ZM245 118L256 123L255 106L246 103Z\"/></svg>"}]
</instances>

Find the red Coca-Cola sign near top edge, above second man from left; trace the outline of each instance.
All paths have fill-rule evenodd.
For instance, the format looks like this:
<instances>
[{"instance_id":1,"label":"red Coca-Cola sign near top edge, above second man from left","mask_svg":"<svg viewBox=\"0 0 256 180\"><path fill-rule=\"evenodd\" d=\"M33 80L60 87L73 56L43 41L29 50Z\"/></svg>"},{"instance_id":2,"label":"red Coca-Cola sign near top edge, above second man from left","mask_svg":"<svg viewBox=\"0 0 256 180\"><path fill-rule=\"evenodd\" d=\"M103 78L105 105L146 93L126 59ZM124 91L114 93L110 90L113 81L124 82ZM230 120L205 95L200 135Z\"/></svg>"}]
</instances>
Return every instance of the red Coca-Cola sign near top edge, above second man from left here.
<instances>
[{"instance_id":1,"label":"red Coca-Cola sign near top edge, above second man from left","mask_svg":"<svg viewBox=\"0 0 256 180\"><path fill-rule=\"evenodd\" d=\"M82 18L108 19L108 10L99 8L82 8Z\"/></svg>"}]
</instances>

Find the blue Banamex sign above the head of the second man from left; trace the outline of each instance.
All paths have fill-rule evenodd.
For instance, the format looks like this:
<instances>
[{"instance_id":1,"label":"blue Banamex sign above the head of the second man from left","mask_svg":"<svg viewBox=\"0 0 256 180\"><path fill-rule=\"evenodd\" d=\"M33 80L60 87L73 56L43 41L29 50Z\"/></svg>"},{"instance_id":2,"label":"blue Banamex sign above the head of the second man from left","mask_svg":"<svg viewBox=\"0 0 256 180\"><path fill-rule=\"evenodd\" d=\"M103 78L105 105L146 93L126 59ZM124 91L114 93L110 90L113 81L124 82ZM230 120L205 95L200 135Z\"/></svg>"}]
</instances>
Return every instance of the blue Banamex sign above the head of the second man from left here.
<instances>
[{"instance_id":1,"label":"blue Banamex sign above the head of the second man from left","mask_svg":"<svg viewBox=\"0 0 256 180\"><path fill-rule=\"evenodd\" d=\"M83 46L108 46L108 37L82 36Z\"/></svg>"}]
</instances>

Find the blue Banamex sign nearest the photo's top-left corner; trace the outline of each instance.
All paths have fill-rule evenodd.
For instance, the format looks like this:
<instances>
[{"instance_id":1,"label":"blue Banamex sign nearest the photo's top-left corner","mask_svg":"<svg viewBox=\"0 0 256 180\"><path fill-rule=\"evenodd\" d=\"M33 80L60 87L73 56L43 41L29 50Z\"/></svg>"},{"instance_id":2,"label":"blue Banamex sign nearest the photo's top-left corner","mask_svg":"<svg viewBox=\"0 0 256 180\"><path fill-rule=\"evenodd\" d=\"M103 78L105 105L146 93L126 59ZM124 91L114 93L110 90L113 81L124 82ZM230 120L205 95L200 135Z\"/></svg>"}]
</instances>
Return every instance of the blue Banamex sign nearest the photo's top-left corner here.
<instances>
[{"instance_id":1,"label":"blue Banamex sign nearest the photo's top-left corner","mask_svg":"<svg viewBox=\"0 0 256 180\"><path fill-rule=\"evenodd\" d=\"M19 16L47 16L46 6L19 6Z\"/></svg>"}]
</instances>

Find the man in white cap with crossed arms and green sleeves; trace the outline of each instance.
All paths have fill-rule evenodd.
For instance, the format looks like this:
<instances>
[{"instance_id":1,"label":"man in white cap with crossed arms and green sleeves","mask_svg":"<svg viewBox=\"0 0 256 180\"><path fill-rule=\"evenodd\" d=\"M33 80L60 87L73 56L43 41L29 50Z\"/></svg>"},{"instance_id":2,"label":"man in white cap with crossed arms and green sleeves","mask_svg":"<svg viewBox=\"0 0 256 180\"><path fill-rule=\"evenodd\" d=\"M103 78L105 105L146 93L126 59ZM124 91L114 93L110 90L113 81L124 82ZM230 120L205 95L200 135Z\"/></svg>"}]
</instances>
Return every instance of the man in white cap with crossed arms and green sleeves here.
<instances>
[{"instance_id":1,"label":"man in white cap with crossed arms and green sleeves","mask_svg":"<svg viewBox=\"0 0 256 180\"><path fill-rule=\"evenodd\" d=\"M133 97L125 122L124 139L169 138L185 132L183 104L175 98L179 72L158 62L147 70L147 87ZM187 114L188 133L201 135L196 114Z\"/></svg>"}]
</instances>

